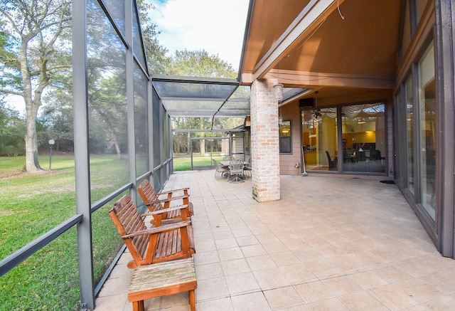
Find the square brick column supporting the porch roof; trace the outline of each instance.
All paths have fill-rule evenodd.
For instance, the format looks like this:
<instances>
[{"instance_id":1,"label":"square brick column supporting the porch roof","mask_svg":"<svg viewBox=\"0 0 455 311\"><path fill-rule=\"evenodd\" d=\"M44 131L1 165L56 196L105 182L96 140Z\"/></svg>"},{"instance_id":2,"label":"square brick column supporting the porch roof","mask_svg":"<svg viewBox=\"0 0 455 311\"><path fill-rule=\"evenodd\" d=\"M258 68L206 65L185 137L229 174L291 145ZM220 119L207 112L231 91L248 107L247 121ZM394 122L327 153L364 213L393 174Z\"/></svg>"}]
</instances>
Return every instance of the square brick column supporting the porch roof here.
<instances>
[{"instance_id":1,"label":"square brick column supporting the porch roof","mask_svg":"<svg viewBox=\"0 0 455 311\"><path fill-rule=\"evenodd\" d=\"M251 85L251 159L253 199L277 201L279 191L278 101L275 79L255 80Z\"/></svg>"}]
</instances>

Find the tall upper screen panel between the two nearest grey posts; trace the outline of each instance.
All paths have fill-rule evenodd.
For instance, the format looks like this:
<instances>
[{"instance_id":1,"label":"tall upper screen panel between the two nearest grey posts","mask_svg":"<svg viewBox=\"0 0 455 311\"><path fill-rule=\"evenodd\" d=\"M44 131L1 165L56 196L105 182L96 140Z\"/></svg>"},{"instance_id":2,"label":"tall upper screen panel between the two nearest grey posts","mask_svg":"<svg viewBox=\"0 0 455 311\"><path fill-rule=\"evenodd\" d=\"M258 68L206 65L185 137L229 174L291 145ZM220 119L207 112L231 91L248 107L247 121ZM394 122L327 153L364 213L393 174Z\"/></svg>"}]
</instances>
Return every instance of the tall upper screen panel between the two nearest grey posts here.
<instances>
[{"instance_id":1,"label":"tall upper screen panel between the two nearest grey posts","mask_svg":"<svg viewBox=\"0 0 455 311\"><path fill-rule=\"evenodd\" d=\"M126 50L98 3L88 5L90 183L96 201L128 181Z\"/></svg>"}]
</instances>

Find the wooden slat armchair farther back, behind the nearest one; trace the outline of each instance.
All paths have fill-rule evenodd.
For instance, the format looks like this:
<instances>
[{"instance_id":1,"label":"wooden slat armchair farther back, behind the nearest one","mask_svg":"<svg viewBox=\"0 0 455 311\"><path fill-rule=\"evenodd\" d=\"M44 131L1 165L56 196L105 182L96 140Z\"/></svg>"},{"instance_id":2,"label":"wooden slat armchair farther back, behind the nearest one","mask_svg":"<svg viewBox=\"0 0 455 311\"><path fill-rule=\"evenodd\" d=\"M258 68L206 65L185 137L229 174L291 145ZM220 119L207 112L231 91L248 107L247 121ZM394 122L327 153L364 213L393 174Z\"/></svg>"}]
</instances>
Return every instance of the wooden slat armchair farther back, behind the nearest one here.
<instances>
[{"instance_id":1,"label":"wooden slat armchair farther back, behind the nearest one","mask_svg":"<svg viewBox=\"0 0 455 311\"><path fill-rule=\"evenodd\" d=\"M164 191L160 193L156 193L151 186L150 182L146 179L141 182L140 186L137 188L137 191L141 195L144 204L147 206L149 211L164 211L164 214L152 214L154 219L151 223L155 223L156 226L161 225L161 221L163 220L178 220L181 217L181 209L173 209L169 210L172 201L181 201L182 204L178 204L178 206L187 206L186 215L191 217L193 216L193 204L190 202L189 195L188 195L188 188L183 189L175 189L171 191ZM176 191L183 191L183 195L181 196L172 196ZM166 199L160 199L159 196L162 194L166 194ZM180 203L180 202L179 202Z\"/></svg>"}]
</instances>

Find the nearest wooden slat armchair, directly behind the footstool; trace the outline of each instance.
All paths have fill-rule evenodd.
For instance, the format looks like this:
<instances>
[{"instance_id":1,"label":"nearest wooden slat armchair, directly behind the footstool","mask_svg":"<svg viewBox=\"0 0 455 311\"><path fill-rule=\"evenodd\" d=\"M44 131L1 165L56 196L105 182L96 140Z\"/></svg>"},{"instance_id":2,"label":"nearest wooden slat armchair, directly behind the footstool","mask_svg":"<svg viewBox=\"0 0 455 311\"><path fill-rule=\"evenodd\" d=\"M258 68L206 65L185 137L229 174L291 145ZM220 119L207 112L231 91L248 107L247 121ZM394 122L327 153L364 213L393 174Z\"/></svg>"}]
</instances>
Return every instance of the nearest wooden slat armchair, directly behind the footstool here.
<instances>
[{"instance_id":1,"label":"nearest wooden slat armchair, directly behind the footstool","mask_svg":"<svg viewBox=\"0 0 455 311\"><path fill-rule=\"evenodd\" d=\"M129 195L123 196L114 204L109 215L133 257L128 263L128 268L189 258L195 253L193 227L191 221L186 220L186 208L188 206L169 208L181 209L181 214L185 218L183 221L147 228L144 218L139 215ZM160 214L163 211L154 213Z\"/></svg>"}]
</instances>

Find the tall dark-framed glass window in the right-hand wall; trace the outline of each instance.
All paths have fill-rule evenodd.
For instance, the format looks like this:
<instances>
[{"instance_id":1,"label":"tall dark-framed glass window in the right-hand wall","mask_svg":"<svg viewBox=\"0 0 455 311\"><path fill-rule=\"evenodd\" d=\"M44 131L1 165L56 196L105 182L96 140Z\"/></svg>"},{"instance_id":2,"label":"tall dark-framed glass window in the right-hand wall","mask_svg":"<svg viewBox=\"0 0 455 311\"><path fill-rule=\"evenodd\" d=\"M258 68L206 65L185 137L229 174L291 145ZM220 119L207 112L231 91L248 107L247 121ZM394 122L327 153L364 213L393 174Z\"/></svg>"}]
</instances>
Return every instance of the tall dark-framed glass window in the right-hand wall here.
<instances>
[{"instance_id":1,"label":"tall dark-framed glass window in the right-hand wall","mask_svg":"<svg viewBox=\"0 0 455 311\"><path fill-rule=\"evenodd\" d=\"M400 131L401 124L406 125L406 137L397 142L398 152L405 155L397 158L400 161L397 165L406 169L399 172L397 181L409 191L410 200L419 207L419 211L428 219L436 221L437 105L434 43L429 43L423 51L400 90L405 95L404 101L396 104L397 110L405 110L405 115L397 120L397 131Z\"/></svg>"}]
</instances>

